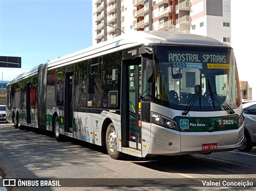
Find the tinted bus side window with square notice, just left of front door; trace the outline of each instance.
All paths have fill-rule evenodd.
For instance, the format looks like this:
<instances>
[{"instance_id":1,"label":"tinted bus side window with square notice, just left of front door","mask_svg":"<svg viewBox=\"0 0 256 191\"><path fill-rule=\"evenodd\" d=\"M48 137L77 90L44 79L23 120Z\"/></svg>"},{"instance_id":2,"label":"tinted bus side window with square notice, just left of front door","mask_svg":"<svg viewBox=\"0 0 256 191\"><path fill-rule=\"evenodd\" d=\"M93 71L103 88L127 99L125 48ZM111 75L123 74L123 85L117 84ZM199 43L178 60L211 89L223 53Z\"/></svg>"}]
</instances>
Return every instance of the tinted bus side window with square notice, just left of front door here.
<instances>
[{"instance_id":1,"label":"tinted bus side window with square notice, just left of front door","mask_svg":"<svg viewBox=\"0 0 256 191\"><path fill-rule=\"evenodd\" d=\"M104 56L102 72L102 107L120 108L122 52Z\"/></svg>"}]
</instances>

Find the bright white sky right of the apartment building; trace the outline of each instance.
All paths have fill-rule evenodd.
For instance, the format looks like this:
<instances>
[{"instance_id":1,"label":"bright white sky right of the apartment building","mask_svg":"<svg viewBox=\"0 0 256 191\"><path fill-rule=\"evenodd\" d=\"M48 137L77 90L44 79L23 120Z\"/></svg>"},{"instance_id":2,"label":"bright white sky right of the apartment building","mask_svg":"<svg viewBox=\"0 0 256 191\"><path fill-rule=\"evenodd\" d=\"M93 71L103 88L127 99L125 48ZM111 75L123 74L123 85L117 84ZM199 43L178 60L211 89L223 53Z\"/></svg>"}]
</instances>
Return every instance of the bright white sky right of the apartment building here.
<instances>
[{"instance_id":1,"label":"bright white sky right of the apartment building","mask_svg":"<svg viewBox=\"0 0 256 191\"><path fill-rule=\"evenodd\" d=\"M254 58L256 1L243 0L242 4L241 9L241 1L231 1L231 46L237 60L239 80L248 81L249 86L252 87L252 99L256 100L256 61Z\"/></svg>"}]
</instances>

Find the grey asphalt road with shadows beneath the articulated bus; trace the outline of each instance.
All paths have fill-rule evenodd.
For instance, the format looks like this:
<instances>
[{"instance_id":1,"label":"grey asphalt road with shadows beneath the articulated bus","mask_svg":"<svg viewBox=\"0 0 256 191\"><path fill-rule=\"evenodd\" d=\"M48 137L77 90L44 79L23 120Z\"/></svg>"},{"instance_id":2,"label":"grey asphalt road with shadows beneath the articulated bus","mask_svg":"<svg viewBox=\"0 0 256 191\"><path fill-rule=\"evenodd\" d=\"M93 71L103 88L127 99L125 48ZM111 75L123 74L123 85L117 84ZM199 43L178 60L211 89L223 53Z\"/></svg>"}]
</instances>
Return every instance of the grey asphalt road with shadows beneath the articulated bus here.
<instances>
[{"instance_id":1,"label":"grey asphalt road with shadows beneath the articulated bus","mask_svg":"<svg viewBox=\"0 0 256 191\"><path fill-rule=\"evenodd\" d=\"M2 178L76 178L95 181L109 178L256 180L256 147L247 153L234 150L210 155L162 158L127 156L125 160L112 160L102 147L73 139L57 142L51 133L42 134L36 129L15 129L12 125L0 124Z\"/></svg>"}]
</instances>

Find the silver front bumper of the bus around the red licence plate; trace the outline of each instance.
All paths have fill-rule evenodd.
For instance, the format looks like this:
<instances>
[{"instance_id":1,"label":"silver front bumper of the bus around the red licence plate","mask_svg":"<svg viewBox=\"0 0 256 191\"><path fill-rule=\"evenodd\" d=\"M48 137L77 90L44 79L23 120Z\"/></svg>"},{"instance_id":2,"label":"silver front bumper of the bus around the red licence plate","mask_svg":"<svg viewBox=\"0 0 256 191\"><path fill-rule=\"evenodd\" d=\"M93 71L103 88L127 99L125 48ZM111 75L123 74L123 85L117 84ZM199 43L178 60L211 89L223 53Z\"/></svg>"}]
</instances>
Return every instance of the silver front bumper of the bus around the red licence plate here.
<instances>
[{"instance_id":1,"label":"silver front bumper of the bus around the red licence plate","mask_svg":"<svg viewBox=\"0 0 256 191\"><path fill-rule=\"evenodd\" d=\"M151 144L148 154L179 155L231 151L244 140L244 125L238 129L215 132L178 132L151 125ZM217 145L217 149L203 150L203 144Z\"/></svg>"}]
</instances>

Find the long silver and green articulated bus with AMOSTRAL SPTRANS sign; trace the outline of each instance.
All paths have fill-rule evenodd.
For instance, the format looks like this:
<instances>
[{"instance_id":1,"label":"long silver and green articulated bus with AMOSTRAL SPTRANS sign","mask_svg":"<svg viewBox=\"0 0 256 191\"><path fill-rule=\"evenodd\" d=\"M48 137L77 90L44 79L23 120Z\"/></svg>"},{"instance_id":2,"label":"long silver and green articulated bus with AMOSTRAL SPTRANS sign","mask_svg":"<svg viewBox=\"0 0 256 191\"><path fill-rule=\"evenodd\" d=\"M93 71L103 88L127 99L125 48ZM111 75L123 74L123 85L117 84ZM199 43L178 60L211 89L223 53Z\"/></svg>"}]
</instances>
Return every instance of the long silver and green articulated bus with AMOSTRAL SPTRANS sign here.
<instances>
[{"instance_id":1,"label":"long silver and green articulated bus with AMOSTRAL SPTRANS sign","mask_svg":"<svg viewBox=\"0 0 256 191\"><path fill-rule=\"evenodd\" d=\"M233 49L208 37L124 34L41 64L7 92L16 128L106 146L113 159L231 151L244 140Z\"/></svg>"}]
</instances>

